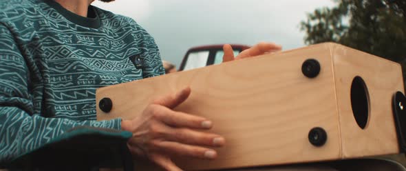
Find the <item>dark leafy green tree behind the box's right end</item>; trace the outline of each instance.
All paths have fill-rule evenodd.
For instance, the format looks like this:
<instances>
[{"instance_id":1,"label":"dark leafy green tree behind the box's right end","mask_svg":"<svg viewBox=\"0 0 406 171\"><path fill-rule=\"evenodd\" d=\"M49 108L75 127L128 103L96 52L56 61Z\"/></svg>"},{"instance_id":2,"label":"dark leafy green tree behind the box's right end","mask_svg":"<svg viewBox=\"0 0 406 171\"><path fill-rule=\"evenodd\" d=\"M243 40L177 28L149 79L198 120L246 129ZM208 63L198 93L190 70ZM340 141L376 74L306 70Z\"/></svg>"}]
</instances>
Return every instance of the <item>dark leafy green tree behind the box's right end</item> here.
<instances>
[{"instance_id":1,"label":"dark leafy green tree behind the box's right end","mask_svg":"<svg viewBox=\"0 0 406 171\"><path fill-rule=\"evenodd\" d=\"M301 21L306 44L332 41L396 61L406 70L406 1L334 0ZM406 79L405 79L406 80Z\"/></svg>"}]
</instances>

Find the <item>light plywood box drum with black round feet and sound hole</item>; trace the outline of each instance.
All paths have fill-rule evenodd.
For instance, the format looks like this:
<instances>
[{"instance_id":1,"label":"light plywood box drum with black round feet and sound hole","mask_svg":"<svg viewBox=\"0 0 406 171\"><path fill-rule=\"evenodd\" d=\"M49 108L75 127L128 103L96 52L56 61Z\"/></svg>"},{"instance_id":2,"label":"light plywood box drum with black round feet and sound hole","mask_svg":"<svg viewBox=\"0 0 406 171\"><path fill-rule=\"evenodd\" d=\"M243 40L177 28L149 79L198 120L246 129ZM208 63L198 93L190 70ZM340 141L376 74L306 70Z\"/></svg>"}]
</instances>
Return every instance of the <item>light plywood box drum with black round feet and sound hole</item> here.
<instances>
[{"instance_id":1,"label":"light plywood box drum with black round feet and sound hole","mask_svg":"<svg viewBox=\"0 0 406 171\"><path fill-rule=\"evenodd\" d=\"M404 90L400 65L335 43L100 88L97 106L109 97L113 108L108 113L98 108L98 120L132 119L152 99L186 86L191 96L175 110L211 119L210 131L224 136L226 145L213 161L175 159L184 170L399 152L392 97ZM309 134L313 128L325 130L324 144L310 143L320 135Z\"/></svg>"}]
</instances>

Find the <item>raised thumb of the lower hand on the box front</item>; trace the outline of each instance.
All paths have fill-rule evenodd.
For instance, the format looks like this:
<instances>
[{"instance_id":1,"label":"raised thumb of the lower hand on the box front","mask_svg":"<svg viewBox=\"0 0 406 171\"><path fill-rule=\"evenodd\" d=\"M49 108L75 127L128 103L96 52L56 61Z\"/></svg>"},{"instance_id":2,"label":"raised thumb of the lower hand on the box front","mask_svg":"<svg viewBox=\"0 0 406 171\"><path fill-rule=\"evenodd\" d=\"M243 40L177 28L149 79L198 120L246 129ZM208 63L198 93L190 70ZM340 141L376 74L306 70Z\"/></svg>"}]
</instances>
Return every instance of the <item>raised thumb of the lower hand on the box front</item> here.
<instances>
[{"instance_id":1,"label":"raised thumb of the lower hand on the box front","mask_svg":"<svg viewBox=\"0 0 406 171\"><path fill-rule=\"evenodd\" d=\"M180 92L178 92L174 95L167 95L165 97L156 99L155 101L153 101L153 103L158 104L158 105L163 105L167 108L173 109L176 106L183 103L184 101L186 101L186 99L189 97L190 94L191 94L191 88L187 87L187 88L184 88L183 90L180 90Z\"/></svg>"}]
</instances>

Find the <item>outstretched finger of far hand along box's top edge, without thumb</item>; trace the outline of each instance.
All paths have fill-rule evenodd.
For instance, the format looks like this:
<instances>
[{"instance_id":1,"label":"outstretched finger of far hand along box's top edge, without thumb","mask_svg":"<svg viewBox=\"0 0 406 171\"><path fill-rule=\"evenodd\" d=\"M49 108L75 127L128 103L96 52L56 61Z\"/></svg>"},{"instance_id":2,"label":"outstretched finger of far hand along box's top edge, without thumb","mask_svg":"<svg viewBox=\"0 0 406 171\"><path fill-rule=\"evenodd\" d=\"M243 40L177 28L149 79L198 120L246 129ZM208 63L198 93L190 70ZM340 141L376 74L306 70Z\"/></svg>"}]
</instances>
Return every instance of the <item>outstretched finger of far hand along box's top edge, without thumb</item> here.
<instances>
[{"instance_id":1,"label":"outstretched finger of far hand along box's top edge, without thumb","mask_svg":"<svg viewBox=\"0 0 406 171\"><path fill-rule=\"evenodd\" d=\"M244 50L241 52L237 58L242 59L246 57L255 57L261 54L265 54L266 52L277 52L281 50L282 47L275 44L275 43L258 43L257 45L249 48L248 50Z\"/></svg>"}]
</instances>

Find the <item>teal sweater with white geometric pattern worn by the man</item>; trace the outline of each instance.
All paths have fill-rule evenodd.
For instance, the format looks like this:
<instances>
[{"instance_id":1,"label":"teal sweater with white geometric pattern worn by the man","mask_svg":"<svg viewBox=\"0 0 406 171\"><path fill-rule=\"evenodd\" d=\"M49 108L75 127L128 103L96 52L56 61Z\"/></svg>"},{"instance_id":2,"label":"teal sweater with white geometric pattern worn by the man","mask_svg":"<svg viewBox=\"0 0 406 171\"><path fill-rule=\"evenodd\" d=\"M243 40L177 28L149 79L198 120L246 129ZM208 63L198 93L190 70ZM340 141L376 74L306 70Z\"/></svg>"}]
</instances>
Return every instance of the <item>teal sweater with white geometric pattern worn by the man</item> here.
<instances>
[{"instance_id":1,"label":"teal sweater with white geometric pattern worn by the man","mask_svg":"<svg viewBox=\"0 0 406 171\"><path fill-rule=\"evenodd\" d=\"M135 66L131 57L140 59ZM0 163L96 121L96 88L164 73L154 39L94 6L78 16L52 0L0 1Z\"/></svg>"}]
</instances>

